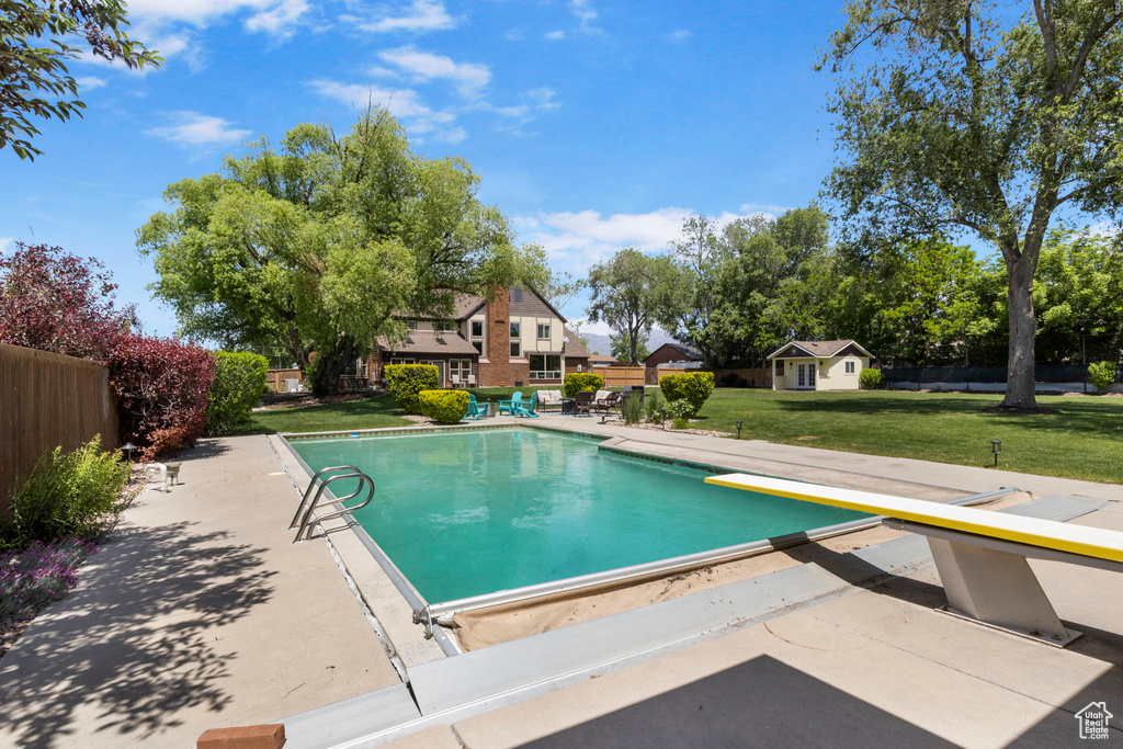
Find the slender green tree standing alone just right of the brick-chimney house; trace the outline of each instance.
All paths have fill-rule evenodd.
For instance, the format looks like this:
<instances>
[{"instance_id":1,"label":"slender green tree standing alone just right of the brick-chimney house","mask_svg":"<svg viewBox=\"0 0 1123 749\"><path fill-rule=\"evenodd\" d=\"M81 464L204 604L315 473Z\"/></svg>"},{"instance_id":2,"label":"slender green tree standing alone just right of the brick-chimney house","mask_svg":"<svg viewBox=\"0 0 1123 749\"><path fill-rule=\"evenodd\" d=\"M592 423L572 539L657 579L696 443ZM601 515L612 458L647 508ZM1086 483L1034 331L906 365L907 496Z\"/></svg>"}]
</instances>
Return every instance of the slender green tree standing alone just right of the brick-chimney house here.
<instances>
[{"instance_id":1,"label":"slender green tree standing alone just right of the brick-chimney house","mask_svg":"<svg viewBox=\"0 0 1123 749\"><path fill-rule=\"evenodd\" d=\"M658 294L670 273L670 259L632 247L588 271L590 322L604 321L617 335L612 356L638 366L647 356L647 339L655 325Z\"/></svg>"}]
</instances>

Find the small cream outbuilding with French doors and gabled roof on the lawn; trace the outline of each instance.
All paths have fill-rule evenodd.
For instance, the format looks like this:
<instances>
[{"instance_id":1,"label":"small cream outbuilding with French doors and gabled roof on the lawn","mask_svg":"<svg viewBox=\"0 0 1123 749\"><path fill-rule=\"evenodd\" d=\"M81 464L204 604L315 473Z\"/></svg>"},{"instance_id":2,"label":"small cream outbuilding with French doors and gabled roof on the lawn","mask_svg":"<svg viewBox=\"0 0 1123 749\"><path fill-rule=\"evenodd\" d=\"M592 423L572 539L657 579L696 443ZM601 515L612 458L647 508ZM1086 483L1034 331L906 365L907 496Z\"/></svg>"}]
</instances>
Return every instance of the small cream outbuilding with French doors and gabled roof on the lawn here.
<instances>
[{"instance_id":1,"label":"small cream outbuilding with French doors and gabled roof on the lawn","mask_svg":"<svg viewBox=\"0 0 1123 749\"><path fill-rule=\"evenodd\" d=\"M856 341L792 340L768 356L773 390L858 390L874 355Z\"/></svg>"}]
</instances>

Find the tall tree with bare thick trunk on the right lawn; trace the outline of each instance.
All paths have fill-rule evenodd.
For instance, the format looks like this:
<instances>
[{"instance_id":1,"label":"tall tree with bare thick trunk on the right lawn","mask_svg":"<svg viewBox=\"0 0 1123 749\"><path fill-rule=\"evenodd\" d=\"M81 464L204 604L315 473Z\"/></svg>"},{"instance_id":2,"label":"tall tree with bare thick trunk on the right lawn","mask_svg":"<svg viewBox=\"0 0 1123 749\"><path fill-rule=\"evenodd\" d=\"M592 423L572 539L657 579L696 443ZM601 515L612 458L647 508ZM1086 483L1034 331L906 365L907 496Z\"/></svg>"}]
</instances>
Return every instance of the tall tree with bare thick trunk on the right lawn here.
<instances>
[{"instance_id":1,"label":"tall tree with bare thick trunk on the right lawn","mask_svg":"<svg viewBox=\"0 0 1123 749\"><path fill-rule=\"evenodd\" d=\"M1020 4L1020 8L1019 8ZM1003 404L1034 400L1033 278L1059 210L1123 207L1123 6L856 0L822 66L842 154L827 191L869 236L961 230L1008 285Z\"/></svg>"}]
</instances>

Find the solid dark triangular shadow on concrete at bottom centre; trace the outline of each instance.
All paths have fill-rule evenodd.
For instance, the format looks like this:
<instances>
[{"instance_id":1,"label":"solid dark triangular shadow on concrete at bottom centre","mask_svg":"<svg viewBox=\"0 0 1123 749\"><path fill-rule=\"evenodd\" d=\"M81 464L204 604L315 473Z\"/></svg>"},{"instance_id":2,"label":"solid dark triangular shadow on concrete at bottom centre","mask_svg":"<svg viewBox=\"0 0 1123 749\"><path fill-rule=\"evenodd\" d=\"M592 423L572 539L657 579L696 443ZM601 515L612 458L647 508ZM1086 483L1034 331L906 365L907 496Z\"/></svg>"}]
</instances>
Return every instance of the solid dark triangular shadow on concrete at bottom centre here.
<instances>
[{"instance_id":1,"label":"solid dark triangular shadow on concrete at bottom centre","mask_svg":"<svg viewBox=\"0 0 1123 749\"><path fill-rule=\"evenodd\" d=\"M523 745L549 747L953 747L775 658L759 656Z\"/></svg>"}]
</instances>

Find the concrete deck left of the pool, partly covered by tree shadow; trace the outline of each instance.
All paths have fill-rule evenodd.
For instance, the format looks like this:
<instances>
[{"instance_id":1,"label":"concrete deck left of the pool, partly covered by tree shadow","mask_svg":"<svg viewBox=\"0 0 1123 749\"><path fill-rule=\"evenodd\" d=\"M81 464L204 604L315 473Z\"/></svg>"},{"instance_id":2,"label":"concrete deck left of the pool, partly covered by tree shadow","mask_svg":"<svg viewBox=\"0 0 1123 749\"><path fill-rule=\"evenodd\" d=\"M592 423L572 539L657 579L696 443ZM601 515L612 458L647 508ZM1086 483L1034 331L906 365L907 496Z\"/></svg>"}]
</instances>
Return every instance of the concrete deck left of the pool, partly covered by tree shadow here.
<instances>
[{"instance_id":1,"label":"concrete deck left of the pool, partly covered by tree shadow","mask_svg":"<svg viewBox=\"0 0 1123 749\"><path fill-rule=\"evenodd\" d=\"M265 437L204 440L0 660L0 746L191 747L400 684Z\"/></svg>"}]
</instances>

